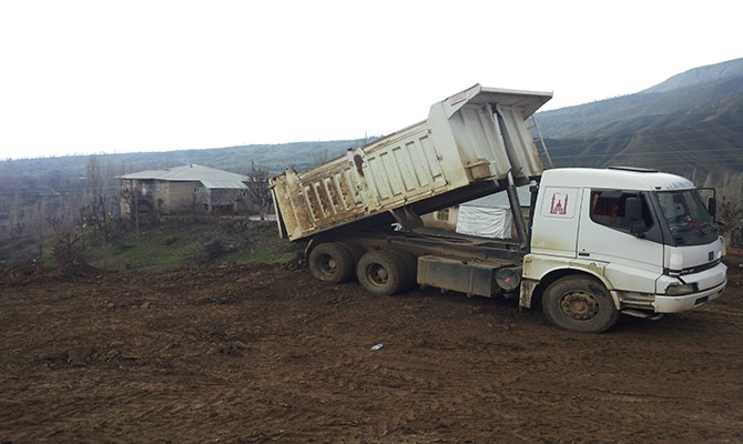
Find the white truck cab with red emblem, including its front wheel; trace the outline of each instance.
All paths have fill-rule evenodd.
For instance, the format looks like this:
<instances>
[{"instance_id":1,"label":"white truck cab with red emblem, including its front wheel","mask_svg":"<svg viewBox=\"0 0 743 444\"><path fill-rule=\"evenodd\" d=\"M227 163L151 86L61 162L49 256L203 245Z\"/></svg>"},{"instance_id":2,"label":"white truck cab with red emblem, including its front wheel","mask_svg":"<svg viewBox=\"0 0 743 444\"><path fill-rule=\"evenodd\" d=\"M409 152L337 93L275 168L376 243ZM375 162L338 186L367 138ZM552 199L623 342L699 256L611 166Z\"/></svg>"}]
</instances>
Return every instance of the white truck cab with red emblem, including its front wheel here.
<instances>
[{"instance_id":1,"label":"white truck cab with red emblem, including its front wheel","mask_svg":"<svg viewBox=\"0 0 743 444\"><path fill-rule=\"evenodd\" d=\"M714 205L710 205L712 209ZM724 244L689 180L654 170L544 171L520 304L557 325L603 331L619 312L650 317L719 297Z\"/></svg>"}]
</instances>

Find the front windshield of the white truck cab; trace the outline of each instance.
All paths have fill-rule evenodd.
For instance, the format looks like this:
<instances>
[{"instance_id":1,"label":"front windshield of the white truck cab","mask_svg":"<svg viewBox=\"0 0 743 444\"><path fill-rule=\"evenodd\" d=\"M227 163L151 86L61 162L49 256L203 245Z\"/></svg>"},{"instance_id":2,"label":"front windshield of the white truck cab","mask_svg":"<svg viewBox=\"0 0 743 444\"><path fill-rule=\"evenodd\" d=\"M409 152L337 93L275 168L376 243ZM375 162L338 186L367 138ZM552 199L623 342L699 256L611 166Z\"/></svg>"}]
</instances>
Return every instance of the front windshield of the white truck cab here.
<instances>
[{"instance_id":1,"label":"front windshield of the white truck cab","mask_svg":"<svg viewBox=\"0 0 743 444\"><path fill-rule=\"evenodd\" d=\"M662 191L658 200L676 244L702 244L717 236L696 190Z\"/></svg>"}]
</instances>

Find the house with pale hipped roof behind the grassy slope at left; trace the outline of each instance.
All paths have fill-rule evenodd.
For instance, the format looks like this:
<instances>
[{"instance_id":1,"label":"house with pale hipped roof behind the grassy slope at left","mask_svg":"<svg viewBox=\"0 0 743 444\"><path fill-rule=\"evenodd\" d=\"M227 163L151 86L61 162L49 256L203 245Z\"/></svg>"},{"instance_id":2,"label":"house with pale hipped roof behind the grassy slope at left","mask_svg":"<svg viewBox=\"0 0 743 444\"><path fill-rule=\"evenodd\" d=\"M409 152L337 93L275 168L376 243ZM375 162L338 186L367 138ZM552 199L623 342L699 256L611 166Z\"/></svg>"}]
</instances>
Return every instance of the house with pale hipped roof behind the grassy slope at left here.
<instances>
[{"instance_id":1,"label":"house with pale hipped roof behind the grassy slope at left","mask_svg":"<svg viewBox=\"0 0 743 444\"><path fill-rule=\"evenodd\" d=\"M190 164L118 176L121 215L235 214L245 209L250 178Z\"/></svg>"}]
</instances>

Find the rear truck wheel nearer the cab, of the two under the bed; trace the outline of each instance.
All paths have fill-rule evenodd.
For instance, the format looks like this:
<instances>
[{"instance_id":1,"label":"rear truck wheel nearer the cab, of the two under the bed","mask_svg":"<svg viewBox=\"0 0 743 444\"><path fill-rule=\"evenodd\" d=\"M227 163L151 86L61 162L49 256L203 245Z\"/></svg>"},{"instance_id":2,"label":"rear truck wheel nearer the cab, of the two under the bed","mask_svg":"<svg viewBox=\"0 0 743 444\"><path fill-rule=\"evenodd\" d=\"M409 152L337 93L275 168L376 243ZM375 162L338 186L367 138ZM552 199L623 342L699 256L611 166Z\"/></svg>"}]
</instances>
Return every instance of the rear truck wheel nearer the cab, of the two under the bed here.
<instances>
[{"instance_id":1,"label":"rear truck wheel nearer the cab, of the two under the bed","mask_svg":"<svg viewBox=\"0 0 743 444\"><path fill-rule=\"evenodd\" d=\"M356 266L356 278L366 291L379 295L399 292L408 283L408 271L395 253L369 251Z\"/></svg>"}]
</instances>

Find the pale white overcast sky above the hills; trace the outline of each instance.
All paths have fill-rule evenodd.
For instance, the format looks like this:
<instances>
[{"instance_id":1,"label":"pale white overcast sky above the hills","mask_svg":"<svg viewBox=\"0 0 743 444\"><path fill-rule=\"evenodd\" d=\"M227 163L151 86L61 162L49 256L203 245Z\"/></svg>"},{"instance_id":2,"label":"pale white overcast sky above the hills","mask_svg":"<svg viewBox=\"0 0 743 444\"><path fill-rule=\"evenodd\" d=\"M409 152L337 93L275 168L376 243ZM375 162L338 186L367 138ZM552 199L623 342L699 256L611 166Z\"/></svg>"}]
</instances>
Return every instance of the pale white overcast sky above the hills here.
<instances>
[{"instance_id":1,"label":"pale white overcast sky above the hills","mask_svg":"<svg viewBox=\"0 0 743 444\"><path fill-rule=\"evenodd\" d=\"M542 110L743 57L734 0L8 0L0 160L383 135L476 83Z\"/></svg>"}]
</instances>

